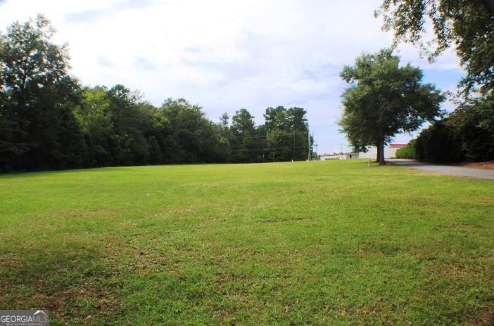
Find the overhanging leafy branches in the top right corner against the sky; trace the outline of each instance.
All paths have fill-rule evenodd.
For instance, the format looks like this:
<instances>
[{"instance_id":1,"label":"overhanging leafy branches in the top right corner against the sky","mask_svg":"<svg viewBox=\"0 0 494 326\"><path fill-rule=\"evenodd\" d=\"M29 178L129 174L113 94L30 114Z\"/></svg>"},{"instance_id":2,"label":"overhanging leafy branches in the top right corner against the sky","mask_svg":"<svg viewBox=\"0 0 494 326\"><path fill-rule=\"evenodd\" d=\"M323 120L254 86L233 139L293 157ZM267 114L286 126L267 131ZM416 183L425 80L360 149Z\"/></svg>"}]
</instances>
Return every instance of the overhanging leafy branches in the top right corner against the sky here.
<instances>
[{"instance_id":1,"label":"overhanging leafy branches in the top right corner against the sky","mask_svg":"<svg viewBox=\"0 0 494 326\"><path fill-rule=\"evenodd\" d=\"M462 80L466 94L477 86L484 94L492 92L494 6L491 0L384 0L375 15L384 18L384 30L393 30L395 44L412 43L429 60L455 46L467 71L467 77ZM429 23L435 37L424 42Z\"/></svg>"}]
</instances>

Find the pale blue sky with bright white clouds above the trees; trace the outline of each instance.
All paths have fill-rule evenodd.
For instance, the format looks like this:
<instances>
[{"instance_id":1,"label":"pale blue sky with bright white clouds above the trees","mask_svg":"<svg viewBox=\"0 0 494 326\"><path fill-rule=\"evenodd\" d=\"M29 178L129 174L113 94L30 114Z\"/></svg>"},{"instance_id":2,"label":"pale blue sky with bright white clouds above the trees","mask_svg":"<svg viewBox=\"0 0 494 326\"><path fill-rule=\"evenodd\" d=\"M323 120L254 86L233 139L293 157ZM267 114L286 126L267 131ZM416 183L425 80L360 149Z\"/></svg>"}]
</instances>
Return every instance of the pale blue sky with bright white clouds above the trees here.
<instances>
[{"instance_id":1,"label":"pale blue sky with bright white clouds above the trees","mask_svg":"<svg viewBox=\"0 0 494 326\"><path fill-rule=\"evenodd\" d=\"M344 65L391 45L374 18L381 0L0 0L0 31L43 13L68 44L84 86L124 84L153 105L186 98L217 121L244 107L303 107L319 153L348 150L338 132ZM430 32L430 31L428 31ZM452 51L435 63L400 45L424 82L455 91L464 74ZM450 103L443 109L452 110ZM398 135L406 143L412 135Z\"/></svg>"}]
</instances>

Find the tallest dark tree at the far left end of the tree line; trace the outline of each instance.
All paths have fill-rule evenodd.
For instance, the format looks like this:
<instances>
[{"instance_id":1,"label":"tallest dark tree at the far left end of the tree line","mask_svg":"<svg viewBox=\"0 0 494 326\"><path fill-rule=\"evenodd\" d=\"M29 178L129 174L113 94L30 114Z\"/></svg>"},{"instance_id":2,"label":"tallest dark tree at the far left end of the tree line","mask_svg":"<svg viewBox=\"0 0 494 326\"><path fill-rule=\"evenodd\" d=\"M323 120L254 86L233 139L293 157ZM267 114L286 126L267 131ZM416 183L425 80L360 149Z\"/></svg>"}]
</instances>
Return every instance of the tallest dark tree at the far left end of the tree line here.
<instances>
[{"instance_id":1,"label":"tallest dark tree at the far left end of the tree line","mask_svg":"<svg viewBox=\"0 0 494 326\"><path fill-rule=\"evenodd\" d=\"M51 44L49 22L18 22L0 37L1 164L18 169L77 167L85 145L73 110L80 101L68 54Z\"/></svg>"}]
</instances>

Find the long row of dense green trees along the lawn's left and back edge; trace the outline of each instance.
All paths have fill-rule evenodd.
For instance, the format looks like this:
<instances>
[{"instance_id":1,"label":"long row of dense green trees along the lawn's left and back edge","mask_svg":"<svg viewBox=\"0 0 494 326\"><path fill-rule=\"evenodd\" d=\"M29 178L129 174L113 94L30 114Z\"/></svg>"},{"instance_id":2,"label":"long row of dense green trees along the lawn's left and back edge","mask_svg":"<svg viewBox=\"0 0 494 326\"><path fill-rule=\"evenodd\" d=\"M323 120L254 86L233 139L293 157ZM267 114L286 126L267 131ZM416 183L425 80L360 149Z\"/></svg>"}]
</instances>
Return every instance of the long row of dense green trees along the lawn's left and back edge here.
<instances>
[{"instance_id":1,"label":"long row of dense green trees along the lawn's left and back edge","mask_svg":"<svg viewBox=\"0 0 494 326\"><path fill-rule=\"evenodd\" d=\"M301 107L268 107L260 125L245 108L213 122L183 98L155 107L120 84L84 87L53 33L39 15L0 34L0 171L279 162L312 150Z\"/></svg>"}]
</instances>

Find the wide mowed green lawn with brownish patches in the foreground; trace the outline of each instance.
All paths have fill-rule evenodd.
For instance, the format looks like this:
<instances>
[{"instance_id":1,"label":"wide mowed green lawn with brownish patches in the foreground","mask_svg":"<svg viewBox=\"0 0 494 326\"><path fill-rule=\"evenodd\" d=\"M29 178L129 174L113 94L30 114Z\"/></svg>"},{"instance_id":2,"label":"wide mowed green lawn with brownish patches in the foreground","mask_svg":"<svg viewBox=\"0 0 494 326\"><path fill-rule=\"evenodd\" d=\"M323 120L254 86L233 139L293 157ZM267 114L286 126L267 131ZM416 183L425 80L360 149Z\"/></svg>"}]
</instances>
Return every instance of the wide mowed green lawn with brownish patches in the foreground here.
<instances>
[{"instance_id":1,"label":"wide mowed green lawn with brownish patches in the foreground","mask_svg":"<svg viewBox=\"0 0 494 326\"><path fill-rule=\"evenodd\" d=\"M364 160L0 176L0 309L50 325L486 325L494 182Z\"/></svg>"}]
</instances>

